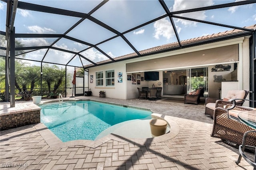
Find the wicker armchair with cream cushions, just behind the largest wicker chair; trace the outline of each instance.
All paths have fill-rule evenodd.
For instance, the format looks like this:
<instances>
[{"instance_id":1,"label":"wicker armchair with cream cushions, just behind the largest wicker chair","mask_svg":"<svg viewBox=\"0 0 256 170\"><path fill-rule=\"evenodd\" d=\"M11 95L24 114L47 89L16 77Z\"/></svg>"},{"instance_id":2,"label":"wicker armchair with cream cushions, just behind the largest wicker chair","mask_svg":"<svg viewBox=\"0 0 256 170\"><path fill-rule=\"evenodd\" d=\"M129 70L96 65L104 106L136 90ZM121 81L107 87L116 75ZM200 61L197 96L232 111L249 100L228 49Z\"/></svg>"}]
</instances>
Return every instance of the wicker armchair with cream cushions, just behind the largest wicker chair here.
<instances>
[{"instance_id":1,"label":"wicker armchair with cream cushions, just behind the largest wicker chair","mask_svg":"<svg viewBox=\"0 0 256 170\"><path fill-rule=\"evenodd\" d=\"M230 99L236 99L236 105L242 106L248 91L246 90L230 90L224 99L213 99L210 97L205 98L205 115L210 115L213 118L214 109L217 107L224 108L225 105L232 104Z\"/></svg>"}]
</instances>

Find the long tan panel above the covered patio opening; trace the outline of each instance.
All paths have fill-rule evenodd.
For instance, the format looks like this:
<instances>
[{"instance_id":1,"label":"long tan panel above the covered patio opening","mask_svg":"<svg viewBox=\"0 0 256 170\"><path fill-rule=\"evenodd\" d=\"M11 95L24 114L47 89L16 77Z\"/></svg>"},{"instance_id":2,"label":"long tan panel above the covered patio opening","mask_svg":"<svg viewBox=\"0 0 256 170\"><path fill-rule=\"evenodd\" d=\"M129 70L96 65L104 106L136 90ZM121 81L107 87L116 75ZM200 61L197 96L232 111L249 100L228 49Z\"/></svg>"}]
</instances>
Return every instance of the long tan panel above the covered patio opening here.
<instances>
[{"instance_id":1,"label":"long tan panel above the covered patio opening","mask_svg":"<svg viewBox=\"0 0 256 170\"><path fill-rule=\"evenodd\" d=\"M193 51L178 55L137 61L127 64L127 72L156 69L175 69L184 67L196 67L198 65L211 65L213 63L229 62L230 59L238 61L238 44L226 45L212 49Z\"/></svg>"}]
</instances>

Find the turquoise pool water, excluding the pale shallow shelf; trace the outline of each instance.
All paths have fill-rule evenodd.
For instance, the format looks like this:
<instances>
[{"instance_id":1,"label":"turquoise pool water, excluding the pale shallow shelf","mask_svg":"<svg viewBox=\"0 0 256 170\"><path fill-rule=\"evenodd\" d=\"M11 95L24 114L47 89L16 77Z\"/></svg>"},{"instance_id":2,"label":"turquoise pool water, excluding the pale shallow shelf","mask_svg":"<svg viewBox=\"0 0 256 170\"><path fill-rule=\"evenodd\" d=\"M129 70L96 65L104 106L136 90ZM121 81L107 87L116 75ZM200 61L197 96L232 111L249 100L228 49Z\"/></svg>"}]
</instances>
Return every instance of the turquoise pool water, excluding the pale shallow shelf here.
<instances>
[{"instance_id":1,"label":"turquoise pool water, excluding the pale shallow shelf","mask_svg":"<svg viewBox=\"0 0 256 170\"><path fill-rule=\"evenodd\" d=\"M94 140L100 132L133 119L151 119L150 111L93 101L50 103L40 106L41 122L62 142Z\"/></svg>"}]
</instances>

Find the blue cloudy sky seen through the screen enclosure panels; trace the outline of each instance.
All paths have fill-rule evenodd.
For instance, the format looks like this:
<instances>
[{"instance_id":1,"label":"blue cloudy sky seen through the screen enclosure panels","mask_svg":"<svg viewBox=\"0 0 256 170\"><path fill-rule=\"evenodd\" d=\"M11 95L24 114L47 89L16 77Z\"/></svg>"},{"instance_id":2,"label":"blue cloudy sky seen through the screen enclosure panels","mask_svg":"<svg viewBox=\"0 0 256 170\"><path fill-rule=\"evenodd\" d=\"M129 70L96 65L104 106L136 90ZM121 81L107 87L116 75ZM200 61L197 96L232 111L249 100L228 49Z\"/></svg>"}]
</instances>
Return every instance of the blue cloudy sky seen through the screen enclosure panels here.
<instances>
[{"instance_id":1,"label":"blue cloudy sky seen through the screen enclosure panels","mask_svg":"<svg viewBox=\"0 0 256 170\"><path fill-rule=\"evenodd\" d=\"M33 4L51 6L65 10L74 10L82 13L89 13L100 2L98 0L19 0ZM237 0L236 0L237 1ZM230 2L234 0L164 0L168 9L173 11L186 10L191 8L199 8L204 6L212 6ZM216 22L237 27L252 26L256 24L256 4L243 5L238 7L222 8L218 10L207 10L200 12L192 12L179 14L179 16L204 20L208 22ZM163 16L165 11L158 0L110 0L101 8L92 13L92 17L107 24L111 28L120 33L124 33L136 26ZM177 14L178 15L178 14ZM14 22L16 33L30 34L63 34L81 18L72 16L61 16L56 14L48 14L44 12L36 12L30 10L18 9ZM220 26L213 26L189 20L181 20L173 18L176 30L178 31L180 40L188 40L226 30ZM6 3L0 1L0 30L5 32L6 25ZM82 40L87 43L96 45L108 38L116 36L115 33L106 30L98 24L86 19L76 26L73 30L66 34L72 38ZM164 45L167 43L177 42L170 19L162 18L156 22L152 22L146 26L132 30L124 34L125 38L136 48L137 51ZM51 45L56 38L16 38L25 47L48 46ZM3 46L3 44L1 44ZM98 62L108 59L104 53L110 57L119 57L134 50L120 37L114 38L108 42L97 45L104 53L92 47L86 51L82 51L90 46L74 42L65 38L61 38L52 45L60 49L79 52L90 61ZM45 49L27 53L27 59L41 61L46 53ZM58 57L57 57L58 56ZM81 59L72 53L67 53L55 49L50 49L44 58L44 61L50 63L61 63L68 65L88 65L89 61ZM60 60L61 57L61 60ZM74 58L73 58L74 57Z\"/></svg>"}]
</instances>

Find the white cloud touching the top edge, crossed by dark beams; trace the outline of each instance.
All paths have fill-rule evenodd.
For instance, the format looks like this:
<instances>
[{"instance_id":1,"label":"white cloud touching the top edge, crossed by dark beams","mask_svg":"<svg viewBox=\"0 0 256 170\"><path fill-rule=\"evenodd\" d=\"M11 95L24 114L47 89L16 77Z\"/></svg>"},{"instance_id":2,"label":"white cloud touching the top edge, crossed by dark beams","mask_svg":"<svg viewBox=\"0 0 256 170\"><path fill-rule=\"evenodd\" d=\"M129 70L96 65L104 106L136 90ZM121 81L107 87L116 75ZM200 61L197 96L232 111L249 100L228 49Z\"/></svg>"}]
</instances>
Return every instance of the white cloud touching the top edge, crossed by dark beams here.
<instances>
[{"instance_id":1,"label":"white cloud touching the top edge, crossed by dark beams","mask_svg":"<svg viewBox=\"0 0 256 170\"><path fill-rule=\"evenodd\" d=\"M170 9L171 11L179 11L179 10L187 10L192 8L199 8L204 6L213 5L212 0L201 0L200 3L195 3L192 0L175 0L173 7ZM205 11L198 12L189 12L185 14L177 14L178 16L183 16L187 18L194 18L198 20L204 20L207 16L205 15ZM182 23L184 26L196 26L197 22L177 19L178 22Z\"/></svg>"}]
</instances>

